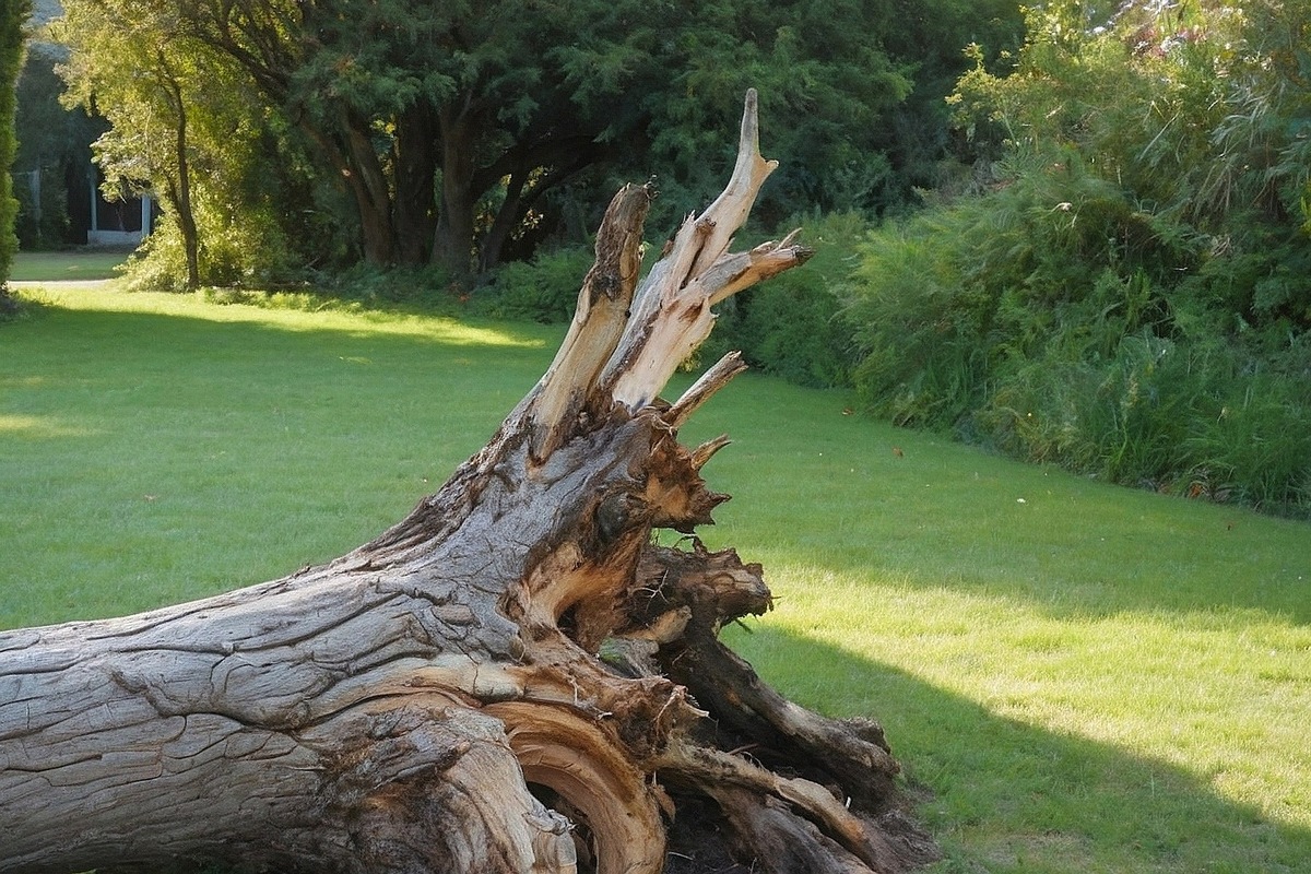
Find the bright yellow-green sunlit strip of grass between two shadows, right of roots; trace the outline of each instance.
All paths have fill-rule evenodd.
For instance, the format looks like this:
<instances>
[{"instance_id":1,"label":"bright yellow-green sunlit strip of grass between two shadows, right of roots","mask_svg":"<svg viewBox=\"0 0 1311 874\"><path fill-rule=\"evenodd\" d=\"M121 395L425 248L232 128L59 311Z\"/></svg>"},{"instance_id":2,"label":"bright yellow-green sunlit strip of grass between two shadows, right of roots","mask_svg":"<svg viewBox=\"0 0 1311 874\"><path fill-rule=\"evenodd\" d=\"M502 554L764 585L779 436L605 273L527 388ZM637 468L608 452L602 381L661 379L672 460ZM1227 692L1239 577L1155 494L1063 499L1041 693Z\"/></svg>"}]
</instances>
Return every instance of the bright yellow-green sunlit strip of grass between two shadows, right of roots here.
<instances>
[{"instance_id":1,"label":"bright yellow-green sunlit strip of grass between two shadows, right of roots","mask_svg":"<svg viewBox=\"0 0 1311 874\"><path fill-rule=\"evenodd\" d=\"M1311 628L1259 609L1050 616L1024 600L773 557L759 620L893 666L990 713L1172 765L1311 827ZM852 622L852 616L860 622ZM751 650L751 636L734 636ZM771 663L771 667L772 663ZM775 679L823 710L880 712L856 685Z\"/></svg>"}]
</instances>

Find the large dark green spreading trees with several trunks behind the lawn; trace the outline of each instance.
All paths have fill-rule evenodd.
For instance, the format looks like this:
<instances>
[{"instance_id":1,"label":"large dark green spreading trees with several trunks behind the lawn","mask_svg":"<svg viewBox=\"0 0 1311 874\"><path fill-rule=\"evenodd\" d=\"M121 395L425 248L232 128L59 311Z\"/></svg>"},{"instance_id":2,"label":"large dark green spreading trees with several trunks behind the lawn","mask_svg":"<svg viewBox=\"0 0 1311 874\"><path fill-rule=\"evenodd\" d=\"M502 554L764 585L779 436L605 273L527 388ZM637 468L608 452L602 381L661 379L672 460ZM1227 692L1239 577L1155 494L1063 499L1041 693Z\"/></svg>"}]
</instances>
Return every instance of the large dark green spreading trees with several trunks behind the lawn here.
<instances>
[{"instance_id":1,"label":"large dark green spreading trees with several trunks behind the lawn","mask_svg":"<svg viewBox=\"0 0 1311 874\"><path fill-rule=\"evenodd\" d=\"M187 54L240 67L265 123L299 135L283 144L309 159L313 208L333 203L334 233L353 235L347 249L374 265L438 263L456 275L522 257L561 229L583 236L595 215L579 204L635 168L659 176L657 210L691 208L713 191L713 170L691 156L704 157L704 131L733 117L749 84L771 94L767 113L796 113L780 155L806 168L779 181L763 218L903 204L918 183L903 168L931 165L926 152L945 138L889 138L880 122L907 96L933 104L932 89L915 90L922 68L941 85L943 58L960 63L960 45L931 63L915 56L940 24L918 0L789 0L768 12L743 0L149 8L156 26L174 29L170 39L193 46ZM953 5L944 17L954 42L1013 24L1015 12L998 0ZM329 186L341 197L328 198ZM311 208L303 193L298 206ZM340 240L328 248L341 250Z\"/></svg>"}]
</instances>

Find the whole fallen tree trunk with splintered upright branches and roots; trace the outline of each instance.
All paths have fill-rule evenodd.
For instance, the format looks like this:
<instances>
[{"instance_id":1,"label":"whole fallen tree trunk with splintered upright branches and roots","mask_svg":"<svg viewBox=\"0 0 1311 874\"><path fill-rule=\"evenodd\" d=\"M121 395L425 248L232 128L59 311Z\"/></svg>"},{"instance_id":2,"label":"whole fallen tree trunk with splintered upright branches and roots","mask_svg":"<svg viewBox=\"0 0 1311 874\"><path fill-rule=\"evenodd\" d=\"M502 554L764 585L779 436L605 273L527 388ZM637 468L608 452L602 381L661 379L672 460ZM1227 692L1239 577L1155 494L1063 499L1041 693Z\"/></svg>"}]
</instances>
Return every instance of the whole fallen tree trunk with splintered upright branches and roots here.
<instances>
[{"instance_id":1,"label":"whole fallen tree trunk with splintered upright branches and roots","mask_svg":"<svg viewBox=\"0 0 1311 874\"><path fill-rule=\"evenodd\" d=\"M801 263L729 253L772 169L747 96L724 194L637 287L653 193L598 233L555 363L437 494L284 579L0 634L0 870L901 871L877 725L793 705L718 641L770 608L694 535L725 443L658 392L711 305ZM690 535L656 545L653 531ZM742 867L741 870L747 870Z\"/></svg>"}]
</instances>

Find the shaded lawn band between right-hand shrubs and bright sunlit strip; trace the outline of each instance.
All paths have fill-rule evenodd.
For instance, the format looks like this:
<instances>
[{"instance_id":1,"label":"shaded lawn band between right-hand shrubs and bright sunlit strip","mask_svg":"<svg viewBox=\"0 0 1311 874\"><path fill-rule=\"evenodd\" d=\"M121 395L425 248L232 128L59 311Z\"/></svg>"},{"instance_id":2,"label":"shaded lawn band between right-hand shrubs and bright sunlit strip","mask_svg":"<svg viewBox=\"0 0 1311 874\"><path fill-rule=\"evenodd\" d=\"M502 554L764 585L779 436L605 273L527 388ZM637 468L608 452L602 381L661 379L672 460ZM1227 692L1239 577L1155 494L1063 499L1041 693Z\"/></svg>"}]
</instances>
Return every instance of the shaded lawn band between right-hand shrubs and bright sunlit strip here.
<instances>
[{"instance_id":1,"label":"shaded lawn band between right-hand shrubs and bright sunlit strip","mask_svg":"<svg viewBox=\"0 0 1311 874\"><path fill-rule=\"evenodd\" d=\"M734 439L707 469L733 495L716 516L734 529L728 540L857 577L941 580L1054 618L1251 612L1311 624L1306 522L1021 464L844 415L846 400L734 384L699 411L691 440ZM741 520L737 507L749 507Z\"/></svg>"}]
</instances>

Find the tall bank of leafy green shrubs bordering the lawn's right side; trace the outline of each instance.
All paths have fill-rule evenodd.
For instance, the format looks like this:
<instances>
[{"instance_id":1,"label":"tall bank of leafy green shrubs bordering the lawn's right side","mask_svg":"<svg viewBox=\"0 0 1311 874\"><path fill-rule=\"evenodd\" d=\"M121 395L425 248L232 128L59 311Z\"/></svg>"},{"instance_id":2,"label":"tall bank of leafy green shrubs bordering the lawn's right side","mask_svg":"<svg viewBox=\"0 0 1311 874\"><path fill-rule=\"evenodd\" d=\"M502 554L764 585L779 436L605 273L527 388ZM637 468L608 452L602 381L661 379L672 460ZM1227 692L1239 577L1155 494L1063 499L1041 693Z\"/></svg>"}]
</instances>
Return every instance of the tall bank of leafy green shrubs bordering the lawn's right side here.
<instances>
[{"instance_id":1,"label":"tall bank of leafy green shrubs bordering the lawn's right side","mask_svg":"<svg viewBox=\"0 0 1311 874\"><path fill-rule=\"evenodd\" d=\"M977 54L953 97L1002 160L861 248L863 397L1114 482L1311 514L1311 4L1055 3L1028 28L1011 75Z\"/></svg>"}]
</instances>

